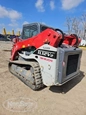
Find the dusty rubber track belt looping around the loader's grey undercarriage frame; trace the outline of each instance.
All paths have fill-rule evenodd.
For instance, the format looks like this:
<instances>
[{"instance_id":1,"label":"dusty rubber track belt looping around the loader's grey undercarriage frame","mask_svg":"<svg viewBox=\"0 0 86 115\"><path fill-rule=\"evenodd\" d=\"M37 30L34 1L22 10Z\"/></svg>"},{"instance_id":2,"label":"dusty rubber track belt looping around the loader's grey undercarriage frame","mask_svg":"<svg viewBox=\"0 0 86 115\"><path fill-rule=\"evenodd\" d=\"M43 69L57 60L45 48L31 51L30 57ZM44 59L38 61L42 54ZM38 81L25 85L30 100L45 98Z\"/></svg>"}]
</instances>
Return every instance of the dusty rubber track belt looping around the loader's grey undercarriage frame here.
<instances>
[{"instance_id":1,"label":"dusty rubber track belt looping around the loader's grey undercarriage frame","mask_svg":"<svg viewBox=\"0 0 86 115\"><path fill-rule=\"evenodd\" d=\"M15 69L12 68L12 65L16 65L16 67L21 67L21 65L24 67L28 66L30 67L29 70L30 71L30 75L32 75L32 79L34 79L34 83L31 83L30 80L27 79L27 77L22 76L22 74L18 73L15 71ZM40 88L43 87L43 82L42 82L42 76L41 76L41 71L40 71L40 67L39 64L37 62L26 62L26 61L10 61L9 62L9 70L12 74L14 74L15 76L17 76L21 81L23 81L23 83L25 83L27 86L29 86L31 89L33 90L38 90ZM24 69L23 69L24 70Z\"/></svg>"}]
</instances>

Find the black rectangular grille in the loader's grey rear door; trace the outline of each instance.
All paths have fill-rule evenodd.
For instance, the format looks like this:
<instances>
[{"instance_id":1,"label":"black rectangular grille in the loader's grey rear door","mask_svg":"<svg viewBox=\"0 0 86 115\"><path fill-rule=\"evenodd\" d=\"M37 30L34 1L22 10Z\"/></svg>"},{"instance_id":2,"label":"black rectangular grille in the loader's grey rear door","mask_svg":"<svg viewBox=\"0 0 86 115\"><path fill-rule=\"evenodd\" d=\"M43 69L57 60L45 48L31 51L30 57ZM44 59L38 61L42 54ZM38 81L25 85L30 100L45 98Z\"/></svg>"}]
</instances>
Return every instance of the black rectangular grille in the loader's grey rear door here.
<instances>
[{"instance_id":1,"label":"black rectangular grille in the loader's grey rear door","mask_svg":"<svg viewBox=\"0 0 86 115\"><path fill-rule=\"evenodd\" d=\"M79 58L79 54L68 56L66 76L76 72L78 66L78 58Z\"/></svg>"}]
</instances>

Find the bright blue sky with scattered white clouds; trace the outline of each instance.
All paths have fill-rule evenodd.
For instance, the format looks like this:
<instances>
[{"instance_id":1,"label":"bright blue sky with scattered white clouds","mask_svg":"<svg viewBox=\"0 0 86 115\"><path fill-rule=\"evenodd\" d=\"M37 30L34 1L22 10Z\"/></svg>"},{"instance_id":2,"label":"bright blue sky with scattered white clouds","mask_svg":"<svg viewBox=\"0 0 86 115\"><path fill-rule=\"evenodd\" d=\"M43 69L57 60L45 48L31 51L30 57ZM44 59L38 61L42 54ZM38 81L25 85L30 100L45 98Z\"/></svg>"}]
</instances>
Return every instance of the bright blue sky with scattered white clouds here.
<instances>
[{"instance_id":1,"label":"bright blue sky with scattered white clouds","mask_svg":"<svg viewBox=\"0 0 86 115\"><path fill-rule=\"evenodd\" d=\"M86 13L86 0L0 0L0 33L21 31L23 24L40 22L66 31L67 17Z\"/></svg>"}]
</instances>

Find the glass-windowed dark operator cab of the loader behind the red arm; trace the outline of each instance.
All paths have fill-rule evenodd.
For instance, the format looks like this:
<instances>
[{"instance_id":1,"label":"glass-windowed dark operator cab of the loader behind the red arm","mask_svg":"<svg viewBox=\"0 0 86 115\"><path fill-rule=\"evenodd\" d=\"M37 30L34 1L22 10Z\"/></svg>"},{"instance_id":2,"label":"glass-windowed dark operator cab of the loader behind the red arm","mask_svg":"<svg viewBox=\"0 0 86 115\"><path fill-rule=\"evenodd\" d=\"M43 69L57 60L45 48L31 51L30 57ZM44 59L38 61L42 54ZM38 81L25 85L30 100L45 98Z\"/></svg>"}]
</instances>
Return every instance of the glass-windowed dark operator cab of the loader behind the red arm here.
<instances>
[{"instance_id":1,"label":"glass-windowed dark operator cab of the loader behind the red arm","mask_svg":"<svg viewBox=\"0 0 86 115\"><path fill-rule=\"evenodd\" d=\"M36 36L40 32L46 30L47 28L51 28L51 27L46 26L44 24L40 24L40 23L25 24L23 25L21 38L22 39L31 38L33 36Z\"/></svg>"}]
</instances>

